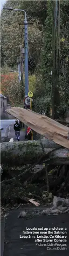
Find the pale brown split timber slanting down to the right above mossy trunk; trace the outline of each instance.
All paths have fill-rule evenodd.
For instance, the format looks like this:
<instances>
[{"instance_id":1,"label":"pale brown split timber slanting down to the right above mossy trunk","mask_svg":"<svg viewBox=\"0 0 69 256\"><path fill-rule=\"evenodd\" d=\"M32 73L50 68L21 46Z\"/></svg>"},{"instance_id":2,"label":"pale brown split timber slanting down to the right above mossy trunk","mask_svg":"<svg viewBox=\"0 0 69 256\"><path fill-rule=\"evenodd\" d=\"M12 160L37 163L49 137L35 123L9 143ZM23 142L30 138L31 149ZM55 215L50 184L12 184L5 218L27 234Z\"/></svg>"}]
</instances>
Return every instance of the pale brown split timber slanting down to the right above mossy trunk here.
<instances>
[{"instance_id":1,"label":"pale brown split timber slanting down to the right above mossy trunk","mask_svg":"<svg viewBox=\"0 0 69 256\"><path fill-rule=\"evenodd\" d=\"M29 109L11 108L6 111L29 126L35 132L43 135L49 140L55 141L55 143L63 147L69 148L69 140L67 140L69 127L59 124L55 120L35 113Z\"/></svg>"}]
</instances>

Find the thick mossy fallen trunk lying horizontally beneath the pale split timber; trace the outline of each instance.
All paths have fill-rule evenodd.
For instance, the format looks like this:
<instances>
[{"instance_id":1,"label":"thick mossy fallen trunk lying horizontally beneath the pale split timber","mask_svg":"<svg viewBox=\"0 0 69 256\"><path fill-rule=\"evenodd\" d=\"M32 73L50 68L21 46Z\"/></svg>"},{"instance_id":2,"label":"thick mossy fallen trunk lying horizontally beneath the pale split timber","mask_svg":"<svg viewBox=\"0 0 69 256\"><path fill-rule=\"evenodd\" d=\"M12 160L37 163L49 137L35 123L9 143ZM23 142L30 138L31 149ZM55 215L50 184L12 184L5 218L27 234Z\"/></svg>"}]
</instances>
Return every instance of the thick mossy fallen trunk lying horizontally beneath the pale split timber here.
<instances>
[{"instance_id":1,"label":"thick mossy fallen trunk lying horizontally beneath the pale split timber","mask_svg":"<svg viewBox=\"0 0 69 256\"><path fill-rule=\"evenodd\" d=\"M49 141L50 148L47 148L48 140L42 140L45 153L52 150L53 141ZM52 145L51 145L52 144ZM55 143L54 143L55 144ZM56 144L55 144L56 145ZM56 145L57 146L57 145ZM20 141L1 143L0 156L1 164L11 166L20 166L29 163L35 163L43 155L40 141ZM69 164L69 150L57 149L50 153L49 164L60 165Z\"/></svg>"}]
</instances>

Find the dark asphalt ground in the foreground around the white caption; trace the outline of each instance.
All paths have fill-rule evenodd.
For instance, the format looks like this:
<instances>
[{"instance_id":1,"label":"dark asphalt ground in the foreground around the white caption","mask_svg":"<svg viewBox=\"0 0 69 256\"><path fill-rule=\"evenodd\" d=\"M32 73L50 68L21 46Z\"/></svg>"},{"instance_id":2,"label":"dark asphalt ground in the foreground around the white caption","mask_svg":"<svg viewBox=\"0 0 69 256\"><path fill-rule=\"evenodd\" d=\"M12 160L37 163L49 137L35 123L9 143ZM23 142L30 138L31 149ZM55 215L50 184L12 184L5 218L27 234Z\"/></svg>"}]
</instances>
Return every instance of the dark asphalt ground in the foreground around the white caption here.
<instances>
[{"instance_id":1,"label":"dark asphalt ground in the foreground around the white caption","mask_svg":"<svg viewBox=\"0 0 69 256\"><path fill-rule=\"evenodd\" d=\"M23 207L21 210L32 210L31 207ZM36 208L35 208L36 210ZM13 209L5 220L5 243L4 254L1 256L68 256L69 255L69 214L60 215L34 215L30 219L18 218L20 209ZM27 227L62 227L67 228L67 250L63 250L62 246L59 246L59 250L54 250L53 246L35 245L34 238L20 238L22 231L26 231ZM60 242L58 242L61 244ZM40 243L38 243L40 244ZM44 243L45 244L45 243ZM62 242L63 244L63 242Z\"/></svg>"}]
</instances>

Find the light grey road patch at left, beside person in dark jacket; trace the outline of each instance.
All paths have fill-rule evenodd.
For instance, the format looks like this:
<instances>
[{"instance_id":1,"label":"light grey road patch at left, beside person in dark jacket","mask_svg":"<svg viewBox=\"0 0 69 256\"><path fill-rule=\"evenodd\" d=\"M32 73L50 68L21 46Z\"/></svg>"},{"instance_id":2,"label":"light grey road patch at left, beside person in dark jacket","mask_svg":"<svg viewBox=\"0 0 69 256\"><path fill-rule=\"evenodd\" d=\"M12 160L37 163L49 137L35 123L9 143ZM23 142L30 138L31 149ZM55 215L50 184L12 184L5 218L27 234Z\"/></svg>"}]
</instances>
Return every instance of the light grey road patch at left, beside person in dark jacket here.
<instances>
[{"instance_id":1,"label":"light grey road patch at left, beside person in dark jacket","mask_svg":"<svg viewBox=\"0 0 69 256\"><path fill-rule=\"evenodd\" d=\"M5 137L5 132L6 132L7 127L14 123L15 123L15 119L0 120L0 128L4 128L4 130L1 131L1 137Z\"/></svg>"}]
</instances>

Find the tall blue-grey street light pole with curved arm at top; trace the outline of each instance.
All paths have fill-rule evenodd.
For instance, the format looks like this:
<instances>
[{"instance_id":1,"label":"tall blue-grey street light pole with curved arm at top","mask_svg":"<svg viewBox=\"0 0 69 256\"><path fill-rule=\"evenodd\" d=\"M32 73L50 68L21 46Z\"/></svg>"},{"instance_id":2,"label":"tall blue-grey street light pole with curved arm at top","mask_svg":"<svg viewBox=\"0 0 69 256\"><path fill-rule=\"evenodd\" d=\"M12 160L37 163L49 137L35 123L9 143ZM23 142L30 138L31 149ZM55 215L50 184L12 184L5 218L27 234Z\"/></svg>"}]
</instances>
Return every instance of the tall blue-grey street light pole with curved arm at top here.
<instances>
[{"instance_id":1,"label":"tall blue-grey street light pole with curved arm at top","mask_svg":"<svg viewBox=\"0 0 69 256\"><path fill-rule=\"evenodd\" d=\"M13 9L13 8L3 8L6 10L11 11L21 11L25 13L25 19L24 19L24 28L25 28L25 96L28 96L28 22L27 22L27 16L26 11L21 9Z\"/></svg>"}]
</instances>

